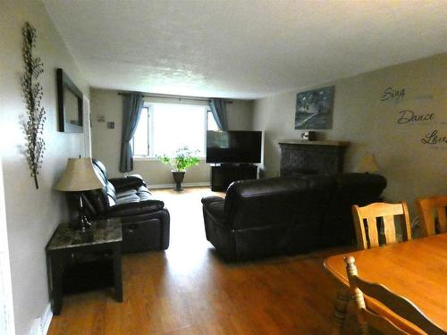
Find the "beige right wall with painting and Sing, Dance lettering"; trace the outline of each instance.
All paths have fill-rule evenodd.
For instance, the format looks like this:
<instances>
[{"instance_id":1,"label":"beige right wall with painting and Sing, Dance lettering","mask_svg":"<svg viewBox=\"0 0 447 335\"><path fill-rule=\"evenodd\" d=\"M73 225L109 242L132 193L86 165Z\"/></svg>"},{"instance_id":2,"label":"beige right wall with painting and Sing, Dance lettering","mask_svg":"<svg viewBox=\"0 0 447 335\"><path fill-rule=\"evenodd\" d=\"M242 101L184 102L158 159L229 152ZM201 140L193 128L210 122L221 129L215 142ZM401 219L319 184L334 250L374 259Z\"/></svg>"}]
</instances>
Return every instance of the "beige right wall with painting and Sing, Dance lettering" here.
<instances>
[{"instance_id":1,"label":"beige right wall with painting and Sing, Dance lettering","mask_svg":"<svg viewBox=\"0 0 447 335\"><path fill-rule=\"evenodd\" d=\"M333 129L316 130L318 139L350 141L345 171L353 172L367 152L375 154L388 180L384 196L406 200L414 213L414 199L446 194L447 143L421 142L438 130L447 137L447 54L404 63L356 77L325 83L335 85ZM405 88L403 100L381 101L385 88ZM266 131L267 176L279 171L282 139L299 138L294 130L296 95L308 88L259 99L254 103L254 128ZM434 120L398 124L399 112L434 113ZM446 139L447 141L447 139Z\"/></svg>"}]
</instances>

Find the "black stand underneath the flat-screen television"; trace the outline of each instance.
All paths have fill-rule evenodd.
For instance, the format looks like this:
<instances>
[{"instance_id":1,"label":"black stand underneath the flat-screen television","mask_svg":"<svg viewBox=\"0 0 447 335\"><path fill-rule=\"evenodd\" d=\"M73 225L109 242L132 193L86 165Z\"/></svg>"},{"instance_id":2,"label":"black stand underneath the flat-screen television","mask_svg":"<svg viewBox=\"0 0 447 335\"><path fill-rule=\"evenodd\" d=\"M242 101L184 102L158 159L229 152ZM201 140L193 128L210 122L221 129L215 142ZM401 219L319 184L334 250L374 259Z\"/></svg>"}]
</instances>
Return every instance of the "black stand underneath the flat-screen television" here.
<instances>
[{"instance_id":1,"label":"black stand underneath the flat-screen television","mask_svg":"<svg viewBox=\"0 0 447 335\"><path fill-rule=\"evenodd\" d=\"M224 192L233 181L256 180L257 165L242 163L221 163L211 166L211 190Z\"/></svg>"}]
</instances>

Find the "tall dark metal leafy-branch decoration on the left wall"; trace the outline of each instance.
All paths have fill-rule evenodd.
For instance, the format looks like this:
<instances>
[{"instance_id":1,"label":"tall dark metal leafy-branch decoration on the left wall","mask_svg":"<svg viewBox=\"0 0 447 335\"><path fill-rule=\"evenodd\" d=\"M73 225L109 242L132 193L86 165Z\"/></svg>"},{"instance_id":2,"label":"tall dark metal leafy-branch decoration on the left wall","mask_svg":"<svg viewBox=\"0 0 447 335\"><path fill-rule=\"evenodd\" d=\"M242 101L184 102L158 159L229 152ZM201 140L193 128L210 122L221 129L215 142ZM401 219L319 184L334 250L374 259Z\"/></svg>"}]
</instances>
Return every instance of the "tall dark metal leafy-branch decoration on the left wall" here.
<instances>
[{"instance_id":1,"label":"tall dark metal leafy-branch decoration on the left wall","mask_svg":"<svg viewBox=\"0 0 447 335\"><path fill-rule=\"evenodd\" d=\"M42 166L45 151L45 141L42 137L46 120L45 108L41 105L43 90L38 77L44 73L44 64L39 57L32 56L32 49L36 47L36 29L29 22L25 22L22 32L25 73L21 77L21 87L26 100L23 129L27 140L25 155L30 165L31 177L38 188L38 170Z\"/></svg>"}]
</instances>

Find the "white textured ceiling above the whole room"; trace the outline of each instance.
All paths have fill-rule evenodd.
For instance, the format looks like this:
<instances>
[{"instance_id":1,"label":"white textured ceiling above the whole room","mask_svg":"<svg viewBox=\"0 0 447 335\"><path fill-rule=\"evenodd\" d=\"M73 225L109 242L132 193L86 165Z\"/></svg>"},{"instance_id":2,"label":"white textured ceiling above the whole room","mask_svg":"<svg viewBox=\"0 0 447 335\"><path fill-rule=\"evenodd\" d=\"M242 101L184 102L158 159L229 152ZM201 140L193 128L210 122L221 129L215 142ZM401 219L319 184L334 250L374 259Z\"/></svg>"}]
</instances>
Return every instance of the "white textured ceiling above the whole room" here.
<instances>
[{"instance_id":1,"label":"white textured ceiling above the whole room","mask_svg":"<svg viewBox=\"0 0 447 335\"><path fill-rule=\"evenodd\" d=\"M43 0L89 84L258 98L447 52L445 0Z\"/></svg>"}]
</instances>

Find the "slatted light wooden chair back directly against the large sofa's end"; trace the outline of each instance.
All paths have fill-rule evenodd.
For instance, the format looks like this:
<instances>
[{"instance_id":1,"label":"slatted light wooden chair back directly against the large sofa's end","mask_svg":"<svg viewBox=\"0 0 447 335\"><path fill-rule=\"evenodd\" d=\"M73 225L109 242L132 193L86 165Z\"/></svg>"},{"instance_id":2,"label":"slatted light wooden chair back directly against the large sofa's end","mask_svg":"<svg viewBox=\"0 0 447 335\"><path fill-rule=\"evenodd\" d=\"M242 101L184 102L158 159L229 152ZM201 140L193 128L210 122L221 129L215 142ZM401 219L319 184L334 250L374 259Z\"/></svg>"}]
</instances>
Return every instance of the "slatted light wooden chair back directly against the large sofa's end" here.
<instances>
[{"instance_id":1,"label":"slatted light wooden chair back directly against the large sofa's end","mask_svg":"<svg viewBox=\"0 0 447 335\"><path fill-rule=\"evenodd\" d=\"M401 219L402 240L411 239L409 208L404 201L399 204L374 203L363 207L353 205L352 216L360 249L397 242L394 225L396 217ZM380 241L378 224L383 224L385 241Z\"/></svg>"}]
</instances>

